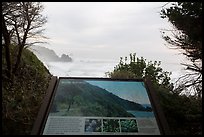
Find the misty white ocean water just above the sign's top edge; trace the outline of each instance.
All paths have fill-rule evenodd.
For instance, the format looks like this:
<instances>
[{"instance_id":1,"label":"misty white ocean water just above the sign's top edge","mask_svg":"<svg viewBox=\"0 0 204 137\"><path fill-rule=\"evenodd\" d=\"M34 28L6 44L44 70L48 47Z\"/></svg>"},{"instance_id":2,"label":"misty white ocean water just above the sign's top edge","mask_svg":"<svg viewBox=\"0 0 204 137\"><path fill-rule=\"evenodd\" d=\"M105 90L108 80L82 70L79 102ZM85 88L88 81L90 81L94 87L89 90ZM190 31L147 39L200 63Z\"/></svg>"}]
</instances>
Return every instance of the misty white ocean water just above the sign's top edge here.
<instances>
[{"instance_id":1,"label":"misty white ocean water just above the sign's top edge","mask_svg":"<svg viewBox=\"0 0 204 137\"><path fill-rule=\"evenodd\" d=\"M73 62L43 62L58 77L106 77L119 63L115 60L75 59Z\"/></svg>"}]
</instances>

